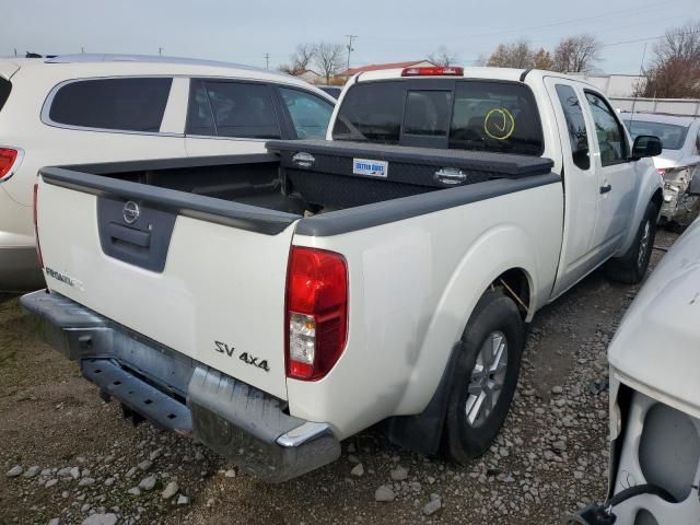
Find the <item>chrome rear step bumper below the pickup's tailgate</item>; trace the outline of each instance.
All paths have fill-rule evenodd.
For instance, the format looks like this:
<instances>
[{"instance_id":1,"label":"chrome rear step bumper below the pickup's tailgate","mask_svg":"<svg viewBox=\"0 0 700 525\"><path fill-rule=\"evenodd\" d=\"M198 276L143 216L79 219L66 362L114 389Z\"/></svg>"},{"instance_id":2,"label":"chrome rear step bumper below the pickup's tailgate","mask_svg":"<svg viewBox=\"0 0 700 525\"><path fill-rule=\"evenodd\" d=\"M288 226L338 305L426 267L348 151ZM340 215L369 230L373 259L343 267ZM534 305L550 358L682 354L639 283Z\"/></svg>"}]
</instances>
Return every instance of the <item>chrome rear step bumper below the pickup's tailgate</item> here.
<instances>
[{"instance_id":1,"label":"chrome rear step bumper below the pickup's tailgate","mask_svg":"<svg viewBox=\"0 0 700 525\"><path fill-rule=\"evenodd\" d=\"M46 290L22 306L40 319L44 338L105 399L180 434L192 435L244 470L268 482L306 474L340 456L326 423L287 413L269 394L128 330Z\"/></svg>"}]
</instances>

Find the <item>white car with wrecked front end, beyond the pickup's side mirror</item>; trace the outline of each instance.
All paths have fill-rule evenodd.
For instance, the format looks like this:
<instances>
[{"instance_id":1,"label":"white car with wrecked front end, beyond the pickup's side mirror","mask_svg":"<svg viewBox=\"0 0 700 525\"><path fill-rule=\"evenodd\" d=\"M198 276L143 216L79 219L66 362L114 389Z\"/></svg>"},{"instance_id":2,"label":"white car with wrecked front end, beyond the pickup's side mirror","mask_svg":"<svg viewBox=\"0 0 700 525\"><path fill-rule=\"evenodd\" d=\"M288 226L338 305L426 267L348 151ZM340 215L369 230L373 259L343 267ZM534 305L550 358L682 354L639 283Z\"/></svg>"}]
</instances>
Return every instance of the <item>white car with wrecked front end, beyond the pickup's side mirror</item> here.
<instances>
[{"instance_id":1,"label":"white car with wrecked front end, beyond the pickup's side mirror","mask_svg":"<svg viewBox=\"0 0 700 525\"><path fill-rule=\"evenodd\" d=\"M661 219L681 226L690 224L700 211L700 199L687 191L693 178L700 179L700 119L642 113L623 114L622 118L632 139L653 135L662 141L663 151L654 158L664 177Z\"/></svg>"}]
</instances>

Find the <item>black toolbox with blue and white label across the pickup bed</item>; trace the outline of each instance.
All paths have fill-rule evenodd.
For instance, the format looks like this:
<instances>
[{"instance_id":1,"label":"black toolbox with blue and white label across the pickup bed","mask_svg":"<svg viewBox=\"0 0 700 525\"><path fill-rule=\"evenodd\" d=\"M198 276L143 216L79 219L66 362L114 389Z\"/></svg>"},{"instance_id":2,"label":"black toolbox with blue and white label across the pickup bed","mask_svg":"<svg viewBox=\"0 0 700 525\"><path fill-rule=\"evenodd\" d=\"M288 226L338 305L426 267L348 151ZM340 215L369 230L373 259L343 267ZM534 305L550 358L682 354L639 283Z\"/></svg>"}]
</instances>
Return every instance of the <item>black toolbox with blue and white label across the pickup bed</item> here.
<instances>
[{"instance_id":1,"label":"black toolbox with blue and white label across the pickup bed","mask_svg":"<svg viewBox=\"0 0 700 525\"><path fill-rule=\"evenodd\" d=\"M494 178L544 175L553 165L532 155L363 142L271 140L266 147L280 156L285 192L342 207Z\"/></svg>"}]
</instances>

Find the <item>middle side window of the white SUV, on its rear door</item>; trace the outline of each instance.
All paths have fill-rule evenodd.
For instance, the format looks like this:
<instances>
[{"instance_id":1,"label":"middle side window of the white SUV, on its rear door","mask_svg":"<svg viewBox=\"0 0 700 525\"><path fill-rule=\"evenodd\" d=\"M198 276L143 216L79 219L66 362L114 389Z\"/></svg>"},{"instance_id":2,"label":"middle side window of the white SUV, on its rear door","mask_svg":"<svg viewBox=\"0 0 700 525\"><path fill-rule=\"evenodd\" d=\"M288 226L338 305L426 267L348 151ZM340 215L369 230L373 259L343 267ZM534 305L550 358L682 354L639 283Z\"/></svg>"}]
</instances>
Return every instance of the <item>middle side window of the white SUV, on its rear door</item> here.
<instances>
[{"instance_id":1,"label":"middle side window of the white SUV, on its rear door","mask_svg":"<svg viewBox=\"0 0 700 525\"><path fill-rule=\"evenodd\" d=\"M219 137L279 139L280 126L267 84L203 81Z\"/></svg>"}]
</instances>

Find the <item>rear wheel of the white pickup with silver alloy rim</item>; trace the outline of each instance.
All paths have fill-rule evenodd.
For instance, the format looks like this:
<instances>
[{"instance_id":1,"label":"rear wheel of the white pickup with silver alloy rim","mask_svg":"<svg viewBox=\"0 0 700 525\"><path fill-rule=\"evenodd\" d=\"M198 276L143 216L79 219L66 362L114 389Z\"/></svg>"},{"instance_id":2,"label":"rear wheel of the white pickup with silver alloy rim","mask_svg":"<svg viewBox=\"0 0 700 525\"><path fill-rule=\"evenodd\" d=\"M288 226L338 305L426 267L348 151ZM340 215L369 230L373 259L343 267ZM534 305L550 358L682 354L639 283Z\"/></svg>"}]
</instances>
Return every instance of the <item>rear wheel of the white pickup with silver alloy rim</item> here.
<instances>
[{"instance_id":1,"label":"rear wheel of the white pickup with silver alloy rim","mask_svg":"<svg viewBox=\"0 0 700 525\"><path fill-rule=\"evenodd\" d=\"M462 336L445 417L445 448L458 463L483 454L508 416L525 339L515 303L489 291Z\"/></svg>"}]
</instances>

